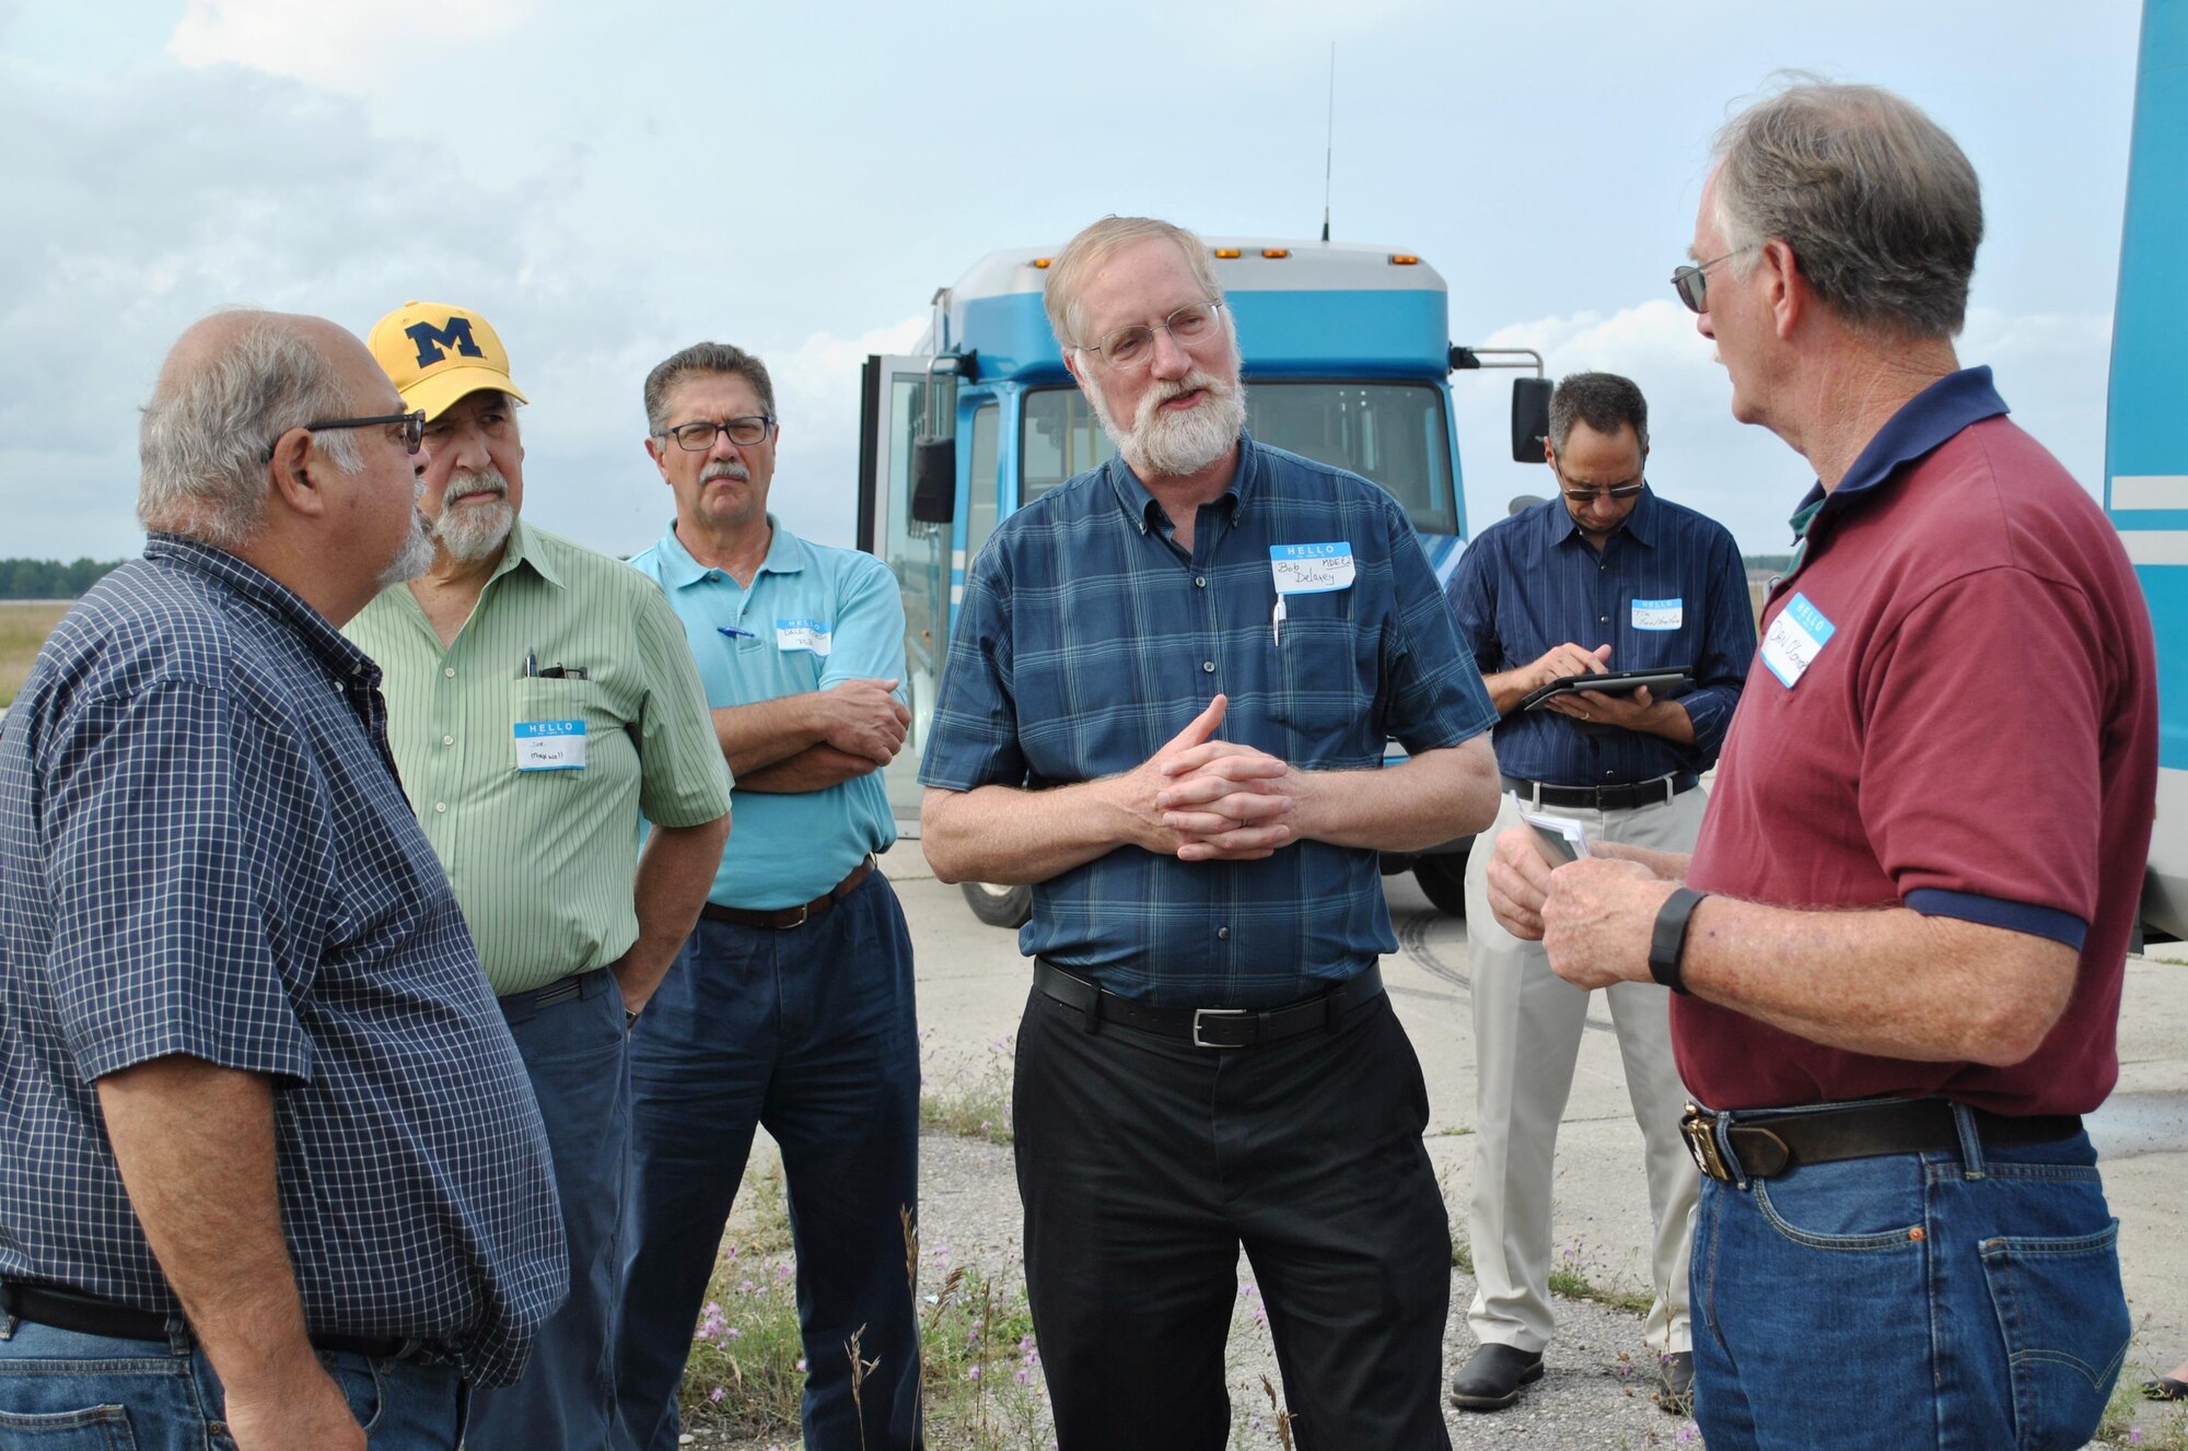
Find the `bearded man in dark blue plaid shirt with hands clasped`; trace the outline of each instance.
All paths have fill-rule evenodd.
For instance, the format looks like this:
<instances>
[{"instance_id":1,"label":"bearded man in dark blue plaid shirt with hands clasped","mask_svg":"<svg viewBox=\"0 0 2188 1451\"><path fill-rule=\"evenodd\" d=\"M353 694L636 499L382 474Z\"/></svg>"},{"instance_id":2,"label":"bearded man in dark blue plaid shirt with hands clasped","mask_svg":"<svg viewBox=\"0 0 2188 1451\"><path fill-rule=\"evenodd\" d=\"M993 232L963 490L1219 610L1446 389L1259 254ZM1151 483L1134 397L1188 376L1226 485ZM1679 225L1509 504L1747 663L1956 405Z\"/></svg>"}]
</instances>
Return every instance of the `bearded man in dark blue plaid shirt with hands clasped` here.
<instances>
[{"instance_id":1,"label":"bearded man in dark blue plaid shirt with hands clasped","mask_svg":"<svg viewBox=\"0 0 2188 1451\"><path fill-rule=\"evenodd\" d=\"M1199 238L1112 216L1046 286L1120 457L967 575L921 846L1033 883L1015 1141L1057 1442L1225 1444L1243 1246L1302 1447L1448 1447L1376 850L1490 822L1497 710L1398 503L1243 435Z\"/></svg>"}]
</instances>

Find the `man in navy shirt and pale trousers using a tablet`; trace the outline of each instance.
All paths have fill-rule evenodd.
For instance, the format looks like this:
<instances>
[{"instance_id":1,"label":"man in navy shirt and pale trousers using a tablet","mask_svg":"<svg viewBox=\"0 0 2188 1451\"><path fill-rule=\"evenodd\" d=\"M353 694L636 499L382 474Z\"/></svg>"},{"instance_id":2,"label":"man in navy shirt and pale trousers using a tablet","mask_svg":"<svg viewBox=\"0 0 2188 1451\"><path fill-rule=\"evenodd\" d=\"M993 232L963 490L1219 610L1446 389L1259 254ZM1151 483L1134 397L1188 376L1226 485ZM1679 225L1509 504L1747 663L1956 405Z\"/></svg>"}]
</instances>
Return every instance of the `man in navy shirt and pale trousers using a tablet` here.
<instances>
[{"instance_id":1,"label":"man in navy shirt and pale trousers using a tablet","mask_svg":"<svg viewBox=\"0 0 2188 1451\"><path fill-rule=\"evenodd\" d=\"M1718 758L1755 656L1739 546L1715 520L1645 481L1648 402L1615 374L1573 374L1549 402L1558 498L1492 524L1466 548L1446 597L1481 666L1508 800L1466 870L1466 953L1475 1003L1475 1178L1468 1213L1481 1348L1453 1405L1499 1409L1543 1375L1549 1344L1549 1213L1558 1119L1573 1086L1588 994L1549 970L1538 942L1488 909L1494 835L1527 811L1573 817L1591 841L1689 850L1702 828L1700 774ZM1689 684L1527 697L1571 675L1672 669ZM1659 1355L1656 1399L1685 1412L1687 1219L1696 1169L1678 1136L1687 1090L1672 1064L1672 994L1608 992L1626 1088L1648 1141L1650 1276L1643 1337Z\"/></svg>"}]
</instances>

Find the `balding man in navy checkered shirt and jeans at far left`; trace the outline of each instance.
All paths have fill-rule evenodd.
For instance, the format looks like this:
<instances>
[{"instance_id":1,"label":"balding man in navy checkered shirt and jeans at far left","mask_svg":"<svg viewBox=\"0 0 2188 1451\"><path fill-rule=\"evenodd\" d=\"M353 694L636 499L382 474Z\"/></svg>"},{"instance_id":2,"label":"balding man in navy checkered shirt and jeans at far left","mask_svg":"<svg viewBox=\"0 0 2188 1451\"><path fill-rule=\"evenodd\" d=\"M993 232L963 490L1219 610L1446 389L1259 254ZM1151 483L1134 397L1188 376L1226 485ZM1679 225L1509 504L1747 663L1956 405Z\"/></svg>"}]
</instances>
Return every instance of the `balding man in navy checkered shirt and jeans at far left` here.
<instances>
[{"instance_id":1,"label":"balding man in navy checkered shirt and jeans at far left","mask_svg":"<svg viewBox=\"0 0 2188 1451\"><path fill-rule=\"evenodd\" d=\"M144 559L0 728L4 1444L453 1449L567 1289L538 1108L337 634L431 559L420 422L333 323L197 323Z\"/></svg>"}]
</instances>

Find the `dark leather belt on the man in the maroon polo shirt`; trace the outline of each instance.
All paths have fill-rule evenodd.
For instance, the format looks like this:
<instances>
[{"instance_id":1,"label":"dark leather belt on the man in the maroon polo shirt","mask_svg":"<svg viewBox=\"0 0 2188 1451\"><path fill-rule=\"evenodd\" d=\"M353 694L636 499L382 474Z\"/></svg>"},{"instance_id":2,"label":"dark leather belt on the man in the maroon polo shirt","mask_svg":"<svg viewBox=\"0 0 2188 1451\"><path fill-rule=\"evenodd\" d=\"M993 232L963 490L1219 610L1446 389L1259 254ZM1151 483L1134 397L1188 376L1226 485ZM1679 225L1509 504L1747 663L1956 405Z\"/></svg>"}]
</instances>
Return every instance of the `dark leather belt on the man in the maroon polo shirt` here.
<instances>
[{"instance_id":1,"label":"dark leather belt on the man in the maroon polo shirt","mask_svg":"<svg viewBox=\"0 0 2188 1451\"><path fill-rule=\"evenodd\" d=\"M1976 1117L1976 1136L1987 1149L2057 1143L2081 1132L2079 1114L2011 1117L1982 1108L1969 1112ZM1718 1125L1726 1117L1731 1121L1722 1132L1737 1163L1726 1160L1718 1143ZM1960 1147L1960 1128L1945 1099L1884 1099L1794 1114L1718 1114L1687 1104L1678 1132L1687 1139L1687 1152L1702 1173L1726 1184L1772 1178L1801 1165Z\"/></svg>"}]
</instances>

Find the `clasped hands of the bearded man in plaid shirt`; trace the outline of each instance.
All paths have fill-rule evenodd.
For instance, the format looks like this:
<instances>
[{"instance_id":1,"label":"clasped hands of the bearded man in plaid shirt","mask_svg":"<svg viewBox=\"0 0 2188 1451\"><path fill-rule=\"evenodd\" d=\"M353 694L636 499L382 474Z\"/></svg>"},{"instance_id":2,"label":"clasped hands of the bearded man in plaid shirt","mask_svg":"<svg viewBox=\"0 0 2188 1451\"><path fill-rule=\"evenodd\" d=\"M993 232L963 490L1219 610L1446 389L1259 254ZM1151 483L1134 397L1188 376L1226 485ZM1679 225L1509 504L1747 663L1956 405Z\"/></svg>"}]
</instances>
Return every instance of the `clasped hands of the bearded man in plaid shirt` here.
<instances>
[{"instance_id":1,"label":"clasped hands of the bearded man in plaid shirt","mask_svg":"<svg viewBox=\"0 0 2188 1451\"><path fill-rule=\"evenodd\" d=\"M1140 846L1179 861L1260 861L1297 839L1304 771L1252 745L1212 741L1230 697L1129 771Z\"/></svg>"}]
</instances>

